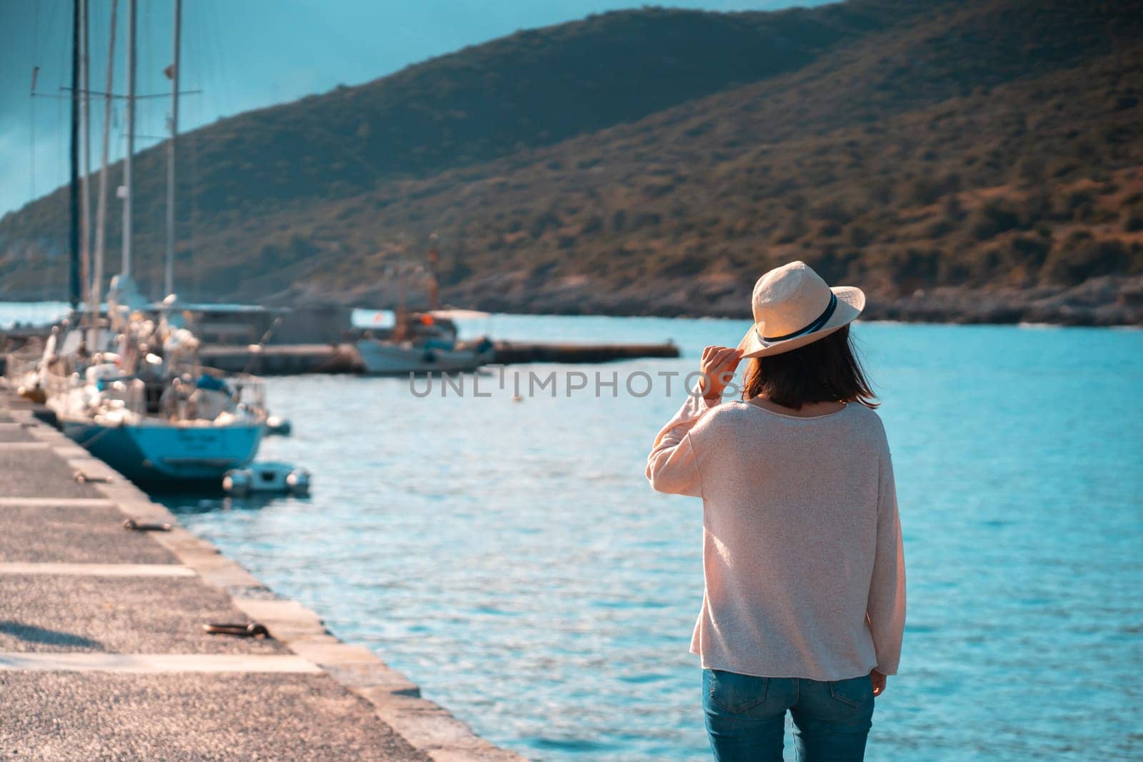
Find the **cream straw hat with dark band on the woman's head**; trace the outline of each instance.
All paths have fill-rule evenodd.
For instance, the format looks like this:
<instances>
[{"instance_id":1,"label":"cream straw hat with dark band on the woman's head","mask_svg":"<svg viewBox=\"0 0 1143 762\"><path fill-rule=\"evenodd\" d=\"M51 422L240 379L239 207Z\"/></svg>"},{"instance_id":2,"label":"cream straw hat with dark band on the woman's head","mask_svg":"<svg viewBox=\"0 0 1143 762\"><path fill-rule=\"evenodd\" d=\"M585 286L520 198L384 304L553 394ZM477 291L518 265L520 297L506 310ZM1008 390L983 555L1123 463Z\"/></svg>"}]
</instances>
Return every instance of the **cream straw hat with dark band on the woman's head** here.
<instances>
[{"instance_id":1,"label":"cream straw hat with dark band on the woman's head","mask_svg":"<svg viewBox=\"0 0 1143 762\"><path fill-rule=\"evenodd\" d=\"M797 350L829 336L865 308L854 286L826 286L805 262L775 267L758 279L751 298L754 324L738 342L743 358Z\"/></svg>"}]
</instances>

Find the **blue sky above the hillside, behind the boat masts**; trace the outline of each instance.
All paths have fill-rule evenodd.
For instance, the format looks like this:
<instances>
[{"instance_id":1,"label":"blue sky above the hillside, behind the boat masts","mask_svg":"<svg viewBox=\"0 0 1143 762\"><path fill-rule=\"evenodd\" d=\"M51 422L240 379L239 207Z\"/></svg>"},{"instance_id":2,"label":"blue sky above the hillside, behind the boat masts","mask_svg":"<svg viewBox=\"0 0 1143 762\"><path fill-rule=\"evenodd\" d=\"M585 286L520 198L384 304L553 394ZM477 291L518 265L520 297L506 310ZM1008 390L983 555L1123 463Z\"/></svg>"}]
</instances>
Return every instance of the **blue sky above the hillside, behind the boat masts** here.
<instances>
[{"instance_id":1,"label":"blue sky above the hillside, behind the boat masts","mask_svg":"<svg viewBox=\"0 0 1143 762\"><path fill-rule=\"evenodd\" d=\"M822 0L660 0L710 10L774 10ZM90 0L91 89L103 90L111 0ZM464 46L588 14L638 8L642 0L184 0L184 89L179 127L191 129L250 109L360 85ZM67 102L72 0L0 0L0 215L67 179ZM138 3L141 94L168 93L170 0ZM126 86L127 0L119 0L115 91ZM31 98L32 67L39 65ZM137 133L165 133L169 99L142 101ZM94 103L93 168L98 168L102 104ZM111 155L122 155L121 111L113 112ZM33 152L34 142L34 152ZM154 144L139 138L136 150ZM35 173L32 173L34 158Z\"/></svg>"}]
</instances>

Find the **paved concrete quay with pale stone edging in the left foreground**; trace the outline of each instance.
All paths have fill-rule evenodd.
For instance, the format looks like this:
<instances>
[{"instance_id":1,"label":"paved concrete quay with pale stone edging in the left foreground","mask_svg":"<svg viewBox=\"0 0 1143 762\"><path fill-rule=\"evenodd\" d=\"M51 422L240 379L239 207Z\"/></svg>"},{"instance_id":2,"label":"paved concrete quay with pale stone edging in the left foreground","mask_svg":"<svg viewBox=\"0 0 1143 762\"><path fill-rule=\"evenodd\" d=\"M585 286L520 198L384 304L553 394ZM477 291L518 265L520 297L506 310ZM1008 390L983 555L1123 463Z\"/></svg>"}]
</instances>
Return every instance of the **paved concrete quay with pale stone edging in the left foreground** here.
<instances>
[{"instance_id":1,"label":"paved concrete quay with pale stone edging in the left foreground","mask_svg":"<svg viewBox=\"0 0 1143 762\"><path fill-rule=\"evenodd\" d=\"M173 529L131 531L127 519ZM209 623L258 623L270 637L210 635ZM77 761L522 759L179 527L2 382L0 748Z\"/></svg>"}]
</instances>

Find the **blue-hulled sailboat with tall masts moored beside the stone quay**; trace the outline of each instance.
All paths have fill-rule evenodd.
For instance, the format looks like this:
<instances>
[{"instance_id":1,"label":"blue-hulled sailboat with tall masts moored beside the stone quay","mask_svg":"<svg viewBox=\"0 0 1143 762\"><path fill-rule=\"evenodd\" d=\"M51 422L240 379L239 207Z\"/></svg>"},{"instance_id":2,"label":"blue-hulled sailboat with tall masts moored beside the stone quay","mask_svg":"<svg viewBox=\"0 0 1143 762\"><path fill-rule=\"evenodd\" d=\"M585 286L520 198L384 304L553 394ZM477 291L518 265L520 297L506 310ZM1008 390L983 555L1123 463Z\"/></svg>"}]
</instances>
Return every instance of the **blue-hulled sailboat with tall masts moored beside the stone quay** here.
<instances>
[{"instance_id":1,"label":"blue-hulled sailboat with tall masts moored beside the stone quay","mask_svg":"<svg viewBox=\"0 0 1143 762\"><path fill-rule=\"evenodd\" d=\"M186 324L177 298L150 303L130 275L131 154L135 133L136 3L129 0L127 152L123 158L123 262L101 316L103 217L106 195L107 130L104 120L103 166L95 273L90 284L88 326L65 328L54 336L41 360L46 404L72 440L141 483L179 486L205 482L219 487L223 475L248 465L266 427L261 379L227 376L198 361L198 339ZM112 5L112 29L115 6ZM179 23L175 0L175 107L168 143L166 289L171 291L174 258L174 169L177 134ZM77 13L75 23L79 23ZM113 33L112 33L113 34ZM79 33L74 35L79 39ZM113 58L114 38L112 37ZM78 55L78 50L77 50ZM78 88L77 88L78 89ZM112 65L107 88L112 91ZM83 96L87 96L85 88ZM79 98L73 98L73 110ZM73 135L74 139L74 135ZM73 151L73 159L75 152ZM72 174L73 183L75 173ZM73 226L74 226L73 216ZM75 235L73 234L73 240ZM77 302L73 279L73 304ZM81 323L78 320L77 323Z\"/></svg>"}]
</instances>

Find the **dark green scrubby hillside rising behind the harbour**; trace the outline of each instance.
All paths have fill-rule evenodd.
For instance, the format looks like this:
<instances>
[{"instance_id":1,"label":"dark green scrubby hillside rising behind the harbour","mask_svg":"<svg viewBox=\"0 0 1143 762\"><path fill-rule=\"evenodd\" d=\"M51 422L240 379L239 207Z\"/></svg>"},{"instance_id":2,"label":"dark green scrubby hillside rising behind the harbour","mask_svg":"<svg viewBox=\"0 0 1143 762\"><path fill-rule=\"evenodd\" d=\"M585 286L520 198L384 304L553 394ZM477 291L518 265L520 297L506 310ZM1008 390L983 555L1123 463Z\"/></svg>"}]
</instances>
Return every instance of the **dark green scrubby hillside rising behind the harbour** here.
<instances>
[{"instance_id":1,"label":"dark green scrubby hillside rising behind the harbour","mask_svg":"<svg viewBox=\"0 0 1143 762\"><path fill-rule=\"evenodd\" d=\"M1079 0L521 32L183 138L177 279L383 304L437 232L462 306L741 314L800 258L873 315L1068 320L1045 305L1072 288L1096 322L1143 320L1140 40L1132 3ZM155 252L160 150L137 167ZM65 209L61 191L0 219L0 298L62 274Z\"/></svg>"}]
</instances>

